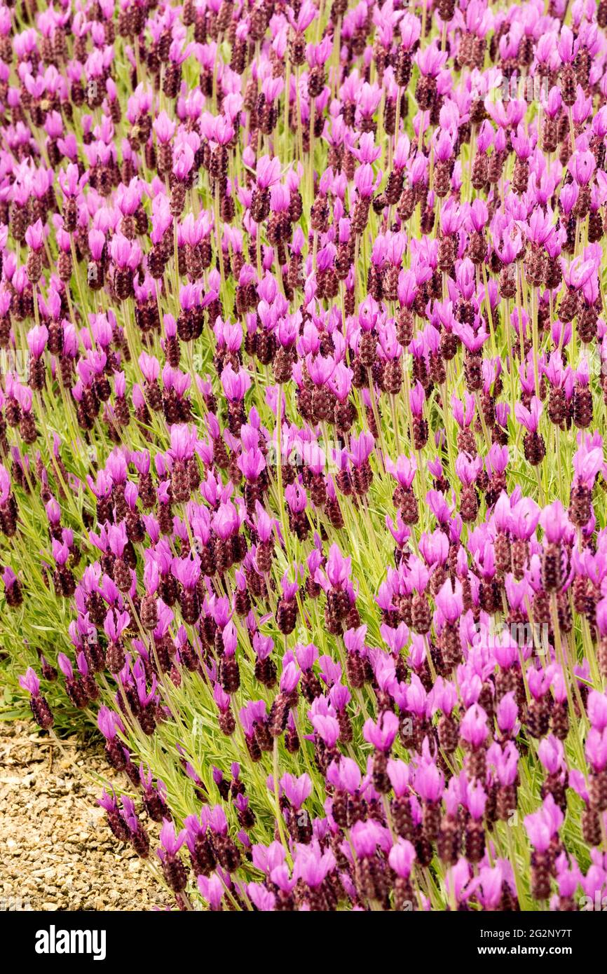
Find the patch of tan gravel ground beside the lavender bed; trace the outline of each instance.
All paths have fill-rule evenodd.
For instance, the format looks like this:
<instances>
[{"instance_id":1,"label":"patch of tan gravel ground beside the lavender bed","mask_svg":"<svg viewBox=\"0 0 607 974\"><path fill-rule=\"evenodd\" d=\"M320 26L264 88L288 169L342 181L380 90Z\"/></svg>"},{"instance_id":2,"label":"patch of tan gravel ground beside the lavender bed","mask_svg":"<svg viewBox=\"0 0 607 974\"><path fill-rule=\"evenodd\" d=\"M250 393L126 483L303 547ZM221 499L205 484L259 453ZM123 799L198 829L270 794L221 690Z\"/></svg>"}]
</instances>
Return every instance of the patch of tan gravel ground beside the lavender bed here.
<instances>
[{"instance_id":1,"label":"patch of tan gravel ground beside the lavender bed","mask_svg":"<svg viewBox=\"0 0 607 974\"><path fill-rule=\"evenodd\" d=\"M0 910L150 910L166 891L95 804L100 749L0 723Z\"/></svg>"}]
</instances>

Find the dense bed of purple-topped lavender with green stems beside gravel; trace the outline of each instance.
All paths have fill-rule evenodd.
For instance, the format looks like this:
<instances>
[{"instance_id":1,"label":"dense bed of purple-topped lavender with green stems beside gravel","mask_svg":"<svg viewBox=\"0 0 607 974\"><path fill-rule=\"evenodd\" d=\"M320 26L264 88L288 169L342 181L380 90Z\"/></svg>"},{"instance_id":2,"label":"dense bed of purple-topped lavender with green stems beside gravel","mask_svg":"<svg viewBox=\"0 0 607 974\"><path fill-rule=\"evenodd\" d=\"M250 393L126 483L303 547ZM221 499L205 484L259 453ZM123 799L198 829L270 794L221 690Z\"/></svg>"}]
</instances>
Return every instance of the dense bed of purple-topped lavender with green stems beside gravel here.
<instances>
[{"instance_id":1,"label":"dense bed of purple-topped lavender with green stems beside gravel","mask_svg":"<svg viewBox=\"0 0 607 974\"><path fill-rule=\"evenodd\" d=\"M179 909L607 891L605 27L0 7L7 649Z\"/></svg>"}]
</instances>

